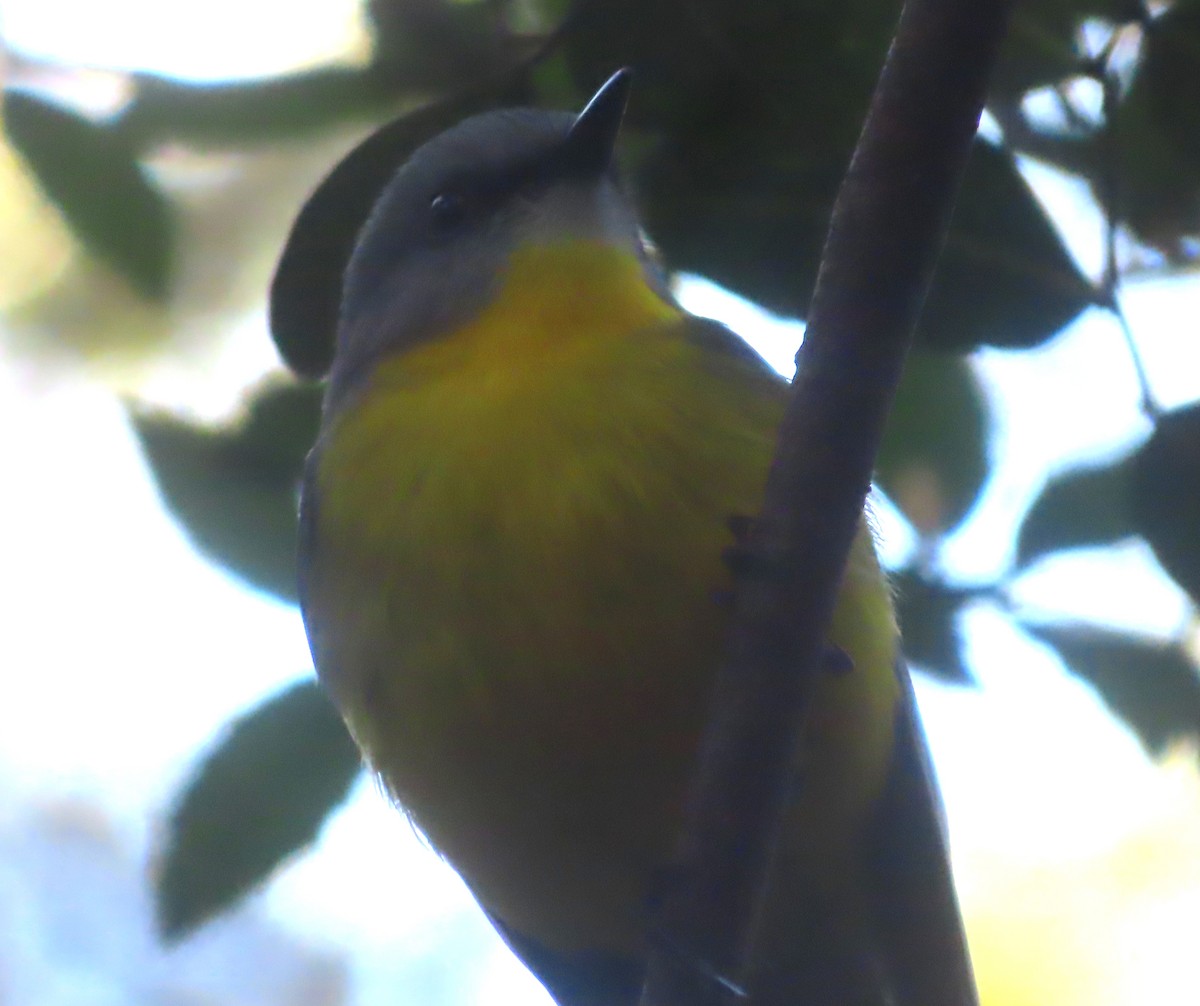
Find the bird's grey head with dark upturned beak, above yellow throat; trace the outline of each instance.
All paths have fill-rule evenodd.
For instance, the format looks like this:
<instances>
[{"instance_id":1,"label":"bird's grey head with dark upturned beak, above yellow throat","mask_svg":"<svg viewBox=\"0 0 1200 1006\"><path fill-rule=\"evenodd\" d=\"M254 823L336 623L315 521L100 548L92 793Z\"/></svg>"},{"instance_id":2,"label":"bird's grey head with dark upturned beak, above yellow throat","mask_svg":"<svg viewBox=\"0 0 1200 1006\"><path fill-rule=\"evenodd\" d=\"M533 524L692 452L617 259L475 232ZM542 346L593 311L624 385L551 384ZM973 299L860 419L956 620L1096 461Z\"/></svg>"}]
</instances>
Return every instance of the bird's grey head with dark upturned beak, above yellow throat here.
<instances>
[{"instance_id":1,"label":"bird's grey head with dark upturned beak, above yellow throat","mask_svg":"<svg viewBox=\"0 0 1200 1006\"><path fill-rule=\"evenodd\" d=\"M475 115L409 157L376 202L346 269L328 408L380 355L474 317L518 245L580 236L628 246L644 261L637 216L612 163L629 86L629 71L618 71L578 115L533 108Z\"/></svg>"}]
</instances>

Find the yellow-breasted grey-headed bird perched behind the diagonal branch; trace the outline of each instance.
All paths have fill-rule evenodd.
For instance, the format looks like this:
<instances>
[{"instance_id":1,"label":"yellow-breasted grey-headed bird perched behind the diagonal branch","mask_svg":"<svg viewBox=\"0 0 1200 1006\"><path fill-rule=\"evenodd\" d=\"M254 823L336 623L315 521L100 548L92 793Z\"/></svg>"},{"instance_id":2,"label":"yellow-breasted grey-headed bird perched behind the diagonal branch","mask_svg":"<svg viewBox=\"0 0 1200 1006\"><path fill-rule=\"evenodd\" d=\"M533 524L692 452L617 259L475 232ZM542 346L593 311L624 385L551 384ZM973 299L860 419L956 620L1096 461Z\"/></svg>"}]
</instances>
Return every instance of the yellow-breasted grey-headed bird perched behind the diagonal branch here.
<instances>
[{"instance_id":1,"label":"yellow-breasted grey-headed bird perched behind the diagonal branch","mask_svg":"<svg viewBox=\"0 0 1200 1006\"><path fill-rule=\"evenodd\" d=\"M637 1001L788 390L673 295L630 88L473 115L370 193L300 503L322 684L559 1006ZM865 513L828 646L751 1001L973 1006Z\"/></svg>"}]
</instances>

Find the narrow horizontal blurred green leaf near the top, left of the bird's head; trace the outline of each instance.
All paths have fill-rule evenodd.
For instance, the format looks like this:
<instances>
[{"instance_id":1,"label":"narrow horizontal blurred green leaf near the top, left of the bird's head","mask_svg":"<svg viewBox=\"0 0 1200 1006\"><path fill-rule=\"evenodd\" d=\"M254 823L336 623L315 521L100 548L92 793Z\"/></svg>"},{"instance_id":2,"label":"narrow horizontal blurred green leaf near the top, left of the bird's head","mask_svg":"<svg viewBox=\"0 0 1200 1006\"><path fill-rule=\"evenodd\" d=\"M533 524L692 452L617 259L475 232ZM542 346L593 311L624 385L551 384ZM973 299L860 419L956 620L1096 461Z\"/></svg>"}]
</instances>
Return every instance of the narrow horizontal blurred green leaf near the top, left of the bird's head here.
<instances>
[{"instance_id":1,"label":"narrow horizontal blurred green leaf near the top, left of the bird's head","mask_svg":"<svg viewBox=\"0 0 1200 1006\"><path fill-rule=\"evenodd\" d=\"M190 84L150 73L114 122L130 144L168 140L191 146L258 146L379 115L397 88L368 67L324 67L268 80Z\"/></svg>"}]
</instances>

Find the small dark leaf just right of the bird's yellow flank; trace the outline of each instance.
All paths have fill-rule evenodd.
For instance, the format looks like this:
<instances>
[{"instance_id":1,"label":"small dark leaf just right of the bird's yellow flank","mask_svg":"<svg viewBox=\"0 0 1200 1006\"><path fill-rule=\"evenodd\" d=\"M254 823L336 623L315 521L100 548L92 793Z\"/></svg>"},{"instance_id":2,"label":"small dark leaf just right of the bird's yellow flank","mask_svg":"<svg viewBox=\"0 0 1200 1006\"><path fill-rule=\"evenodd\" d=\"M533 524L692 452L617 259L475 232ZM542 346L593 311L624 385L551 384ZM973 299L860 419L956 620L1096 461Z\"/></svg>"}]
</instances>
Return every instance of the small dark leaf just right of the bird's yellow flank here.
<instances>
[{"instance_id":1,"label":"small dark leaf just right of the bird's yellow flank","mask_svg":"<svg viewBox=\"0 0 1200 1006\"><path fill-rule=\"evenodd\" d=\"M958 619L962 607L979 592L947 587L912 569L888 579L895 594L905 659L942 681L973 684L962 658Z\"/></svg>"}]
</instances>

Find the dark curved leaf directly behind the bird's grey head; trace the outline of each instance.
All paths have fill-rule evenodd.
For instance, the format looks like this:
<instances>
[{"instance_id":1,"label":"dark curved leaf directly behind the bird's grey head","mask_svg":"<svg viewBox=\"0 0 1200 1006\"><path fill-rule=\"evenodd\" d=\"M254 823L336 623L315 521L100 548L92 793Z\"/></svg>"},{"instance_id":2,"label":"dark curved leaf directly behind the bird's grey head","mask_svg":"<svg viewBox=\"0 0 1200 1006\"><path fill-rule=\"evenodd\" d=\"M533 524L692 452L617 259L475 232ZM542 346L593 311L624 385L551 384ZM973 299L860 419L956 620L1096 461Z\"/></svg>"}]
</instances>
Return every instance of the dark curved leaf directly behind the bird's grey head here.
<instances>
[{"instance_id":1,"label":"dark curved leaf directly behind the bird's grey head","mask_svg":"<svg viewBox=\"0 0 1200 1006\"><path fill-rule=\"evenodd\" d=\"M329 372L342 273L396 169L425 140L498 97L472 91L402 115L350 150L308 197L292 224L270 291L271 337L296 373L319 378Z\"/></svg>"}]
</instances>

